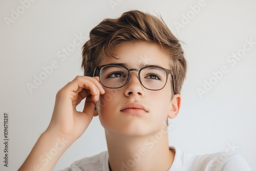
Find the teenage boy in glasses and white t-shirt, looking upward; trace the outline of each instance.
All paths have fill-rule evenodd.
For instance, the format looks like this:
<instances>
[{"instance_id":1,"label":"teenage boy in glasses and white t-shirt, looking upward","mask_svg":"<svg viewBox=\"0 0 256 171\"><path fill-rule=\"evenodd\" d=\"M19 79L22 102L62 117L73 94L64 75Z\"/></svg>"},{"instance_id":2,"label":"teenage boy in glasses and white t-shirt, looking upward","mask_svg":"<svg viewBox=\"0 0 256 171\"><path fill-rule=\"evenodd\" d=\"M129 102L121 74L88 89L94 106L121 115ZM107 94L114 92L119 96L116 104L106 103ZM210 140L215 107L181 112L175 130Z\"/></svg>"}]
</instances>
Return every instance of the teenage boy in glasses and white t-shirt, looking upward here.
<instances>
[{"instance_id":1,"label":"teenage boy in glasses and white t-shirt, looking upward","mask_svg":"<svg viewBox=\"0 0 256 171\"><path fill-rule=\"evenodd\" d=\"M85 76L58 91L49 127L19 170L52 170L93 116L105 129L108 152L65 170L250 170L238 155L219 162L220 153L196 156L169 146L166 120L178 115L187 66L160 19L137 10L105 19L82 57ZM83 111L76 111L84 98ZM50 160L46 152L54 153Z\"/></svg>"}]
</instances>

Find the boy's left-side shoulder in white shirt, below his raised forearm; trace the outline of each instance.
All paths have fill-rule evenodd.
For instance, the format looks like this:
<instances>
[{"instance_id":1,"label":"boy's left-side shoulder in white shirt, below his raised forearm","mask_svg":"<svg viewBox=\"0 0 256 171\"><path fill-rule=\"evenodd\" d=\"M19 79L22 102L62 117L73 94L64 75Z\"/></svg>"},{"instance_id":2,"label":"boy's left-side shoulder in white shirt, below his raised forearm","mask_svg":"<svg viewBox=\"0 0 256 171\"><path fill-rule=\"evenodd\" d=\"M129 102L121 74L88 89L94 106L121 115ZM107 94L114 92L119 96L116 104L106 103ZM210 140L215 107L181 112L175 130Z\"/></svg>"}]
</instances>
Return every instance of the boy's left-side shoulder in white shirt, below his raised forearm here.
<instances>
[{"instance_id":1,"label":"boy's left-side shoulder in white shirt, below his raised forearm","mask_svg":"<svg viewBox=\"0 0 256 171\"><path fill-rule=\"evenodd\" d=\"M82 170L106 170L108 171L109 154L107 151L100 154L85 157L71 164L70 167L62 171L82 171ZM107 168L106 168L107 167Z\"/></svg>"}]
</instances>

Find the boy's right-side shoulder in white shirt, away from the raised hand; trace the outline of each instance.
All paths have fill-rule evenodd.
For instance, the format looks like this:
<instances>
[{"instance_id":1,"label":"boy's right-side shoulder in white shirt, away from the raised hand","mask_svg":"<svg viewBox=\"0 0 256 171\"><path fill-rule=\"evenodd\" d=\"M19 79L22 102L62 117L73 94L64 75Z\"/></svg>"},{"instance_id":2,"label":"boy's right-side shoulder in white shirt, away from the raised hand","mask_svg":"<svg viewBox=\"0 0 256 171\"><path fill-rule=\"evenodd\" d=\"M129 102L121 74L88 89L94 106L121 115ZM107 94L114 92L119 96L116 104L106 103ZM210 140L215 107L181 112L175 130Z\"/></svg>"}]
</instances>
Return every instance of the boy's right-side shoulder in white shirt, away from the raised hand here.
<instances>
[{"instance_id":1,"label":"boy's right-side shoulder in white shirt, away from the raised hand","mask_svg":"<svg viewBox=\"0 0 256 171\"><path fill-rule=\"evenodd\" d=\"M247 162L239 155L227 154L225 152L205 155L193 155L189 153L184 153L176 147L173 148L176 151L173 165L177 168L181 168L180 170L251 170Z\"/></svg>"}]
</instances>

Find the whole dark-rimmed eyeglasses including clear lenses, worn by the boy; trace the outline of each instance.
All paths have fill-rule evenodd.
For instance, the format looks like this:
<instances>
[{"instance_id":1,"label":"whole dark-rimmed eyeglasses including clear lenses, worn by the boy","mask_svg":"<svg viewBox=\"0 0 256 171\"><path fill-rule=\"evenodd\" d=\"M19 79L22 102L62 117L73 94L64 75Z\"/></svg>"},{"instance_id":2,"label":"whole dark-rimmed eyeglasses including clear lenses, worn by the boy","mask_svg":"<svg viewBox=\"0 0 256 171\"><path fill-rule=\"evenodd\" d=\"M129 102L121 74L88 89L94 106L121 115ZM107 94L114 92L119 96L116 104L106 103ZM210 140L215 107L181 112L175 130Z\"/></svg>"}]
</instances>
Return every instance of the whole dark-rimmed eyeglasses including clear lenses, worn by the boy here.
<instances>
[{"instance_id":1,"label":"whole dark-rimmed eyeglasses including clear lenses, worn by the boy","mask_svg":"<svg viewBox=\"0 0 256 171\"><path fill-rule=\"evenodd\" d=\"M141 85L148 90L163 89L167 82L168 75L170 74L173 78L173 89L175 94L173 72L158 66L147 66L138 70L134 68L127 69L122 65L103 65L95 68L93 76L96 76L97 73L102 86L110 89L117 89L129 82L130 71L139 72L139 81Z\"/></svg>"}]
</instances>

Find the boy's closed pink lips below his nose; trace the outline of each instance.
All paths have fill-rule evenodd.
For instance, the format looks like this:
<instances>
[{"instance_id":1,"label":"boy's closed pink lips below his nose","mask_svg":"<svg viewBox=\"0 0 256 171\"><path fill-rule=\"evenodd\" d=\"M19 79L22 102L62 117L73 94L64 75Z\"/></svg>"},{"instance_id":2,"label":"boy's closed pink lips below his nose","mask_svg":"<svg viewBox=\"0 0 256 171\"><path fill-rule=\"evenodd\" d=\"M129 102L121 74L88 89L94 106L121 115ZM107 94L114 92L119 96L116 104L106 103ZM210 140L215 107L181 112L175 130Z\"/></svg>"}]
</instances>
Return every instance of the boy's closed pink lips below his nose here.
<instances>
[{"instance_id":1,"label":"boy's closed pink lips below his nose","mask_svg":"<svg viewBox=\"0 0 256 171\"><path fill-rule=\"evenodd\" d=\"M141 103L138 102L126 103L120 111L135 115L144 114L148 112L147 109Z\"/></svg>"}]
</instances>

